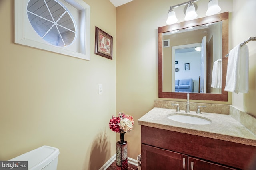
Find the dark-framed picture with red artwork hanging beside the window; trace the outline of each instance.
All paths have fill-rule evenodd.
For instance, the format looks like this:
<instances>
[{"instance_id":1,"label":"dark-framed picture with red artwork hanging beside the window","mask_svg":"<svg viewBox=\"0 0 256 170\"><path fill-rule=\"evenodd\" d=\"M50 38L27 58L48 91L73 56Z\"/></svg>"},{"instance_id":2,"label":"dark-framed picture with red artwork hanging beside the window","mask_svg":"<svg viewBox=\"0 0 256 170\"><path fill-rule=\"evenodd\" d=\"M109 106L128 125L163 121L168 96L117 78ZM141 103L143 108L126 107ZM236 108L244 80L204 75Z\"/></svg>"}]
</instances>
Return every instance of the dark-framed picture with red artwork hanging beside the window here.
<instances>
[{"instance_id":1,"label":"dark-framed picture with red artwork hanging beside the window","mask_svg":"<svg viewBox=\"0 0 256 170\"><path fill-rule=\"evenodd\" d=\"M112 60L113 37L95 27L95 54Z\"/></svg>"}]
</instances>

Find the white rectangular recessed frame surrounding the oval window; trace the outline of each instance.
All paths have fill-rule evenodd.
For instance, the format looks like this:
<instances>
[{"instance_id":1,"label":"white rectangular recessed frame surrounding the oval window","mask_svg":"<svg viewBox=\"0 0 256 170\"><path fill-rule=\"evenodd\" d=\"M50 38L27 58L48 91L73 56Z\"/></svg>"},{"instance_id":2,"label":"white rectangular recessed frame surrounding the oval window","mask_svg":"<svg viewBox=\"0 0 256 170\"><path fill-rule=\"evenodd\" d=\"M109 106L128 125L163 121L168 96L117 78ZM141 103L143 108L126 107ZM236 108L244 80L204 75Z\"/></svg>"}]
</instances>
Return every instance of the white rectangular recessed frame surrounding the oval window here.
<instances>
[{"instance_id":1,"label":"white rectangular recessed frame surrounding the oval window","mask_svg":"<svg viewBox=\"0 0 256 170\"><path fill-rule=\"evenodd\" d=\"M73 50L57 47L38 36L28 20L26 9L28 0L15 0L15 43L90 60L90 6L83 0L60 0L60 2L66 2L80 11L80 21L84 21L84 23L80 23L80 30L82 31L77 36L80 42L79 47Z\"/></svg>"}]
</instances>

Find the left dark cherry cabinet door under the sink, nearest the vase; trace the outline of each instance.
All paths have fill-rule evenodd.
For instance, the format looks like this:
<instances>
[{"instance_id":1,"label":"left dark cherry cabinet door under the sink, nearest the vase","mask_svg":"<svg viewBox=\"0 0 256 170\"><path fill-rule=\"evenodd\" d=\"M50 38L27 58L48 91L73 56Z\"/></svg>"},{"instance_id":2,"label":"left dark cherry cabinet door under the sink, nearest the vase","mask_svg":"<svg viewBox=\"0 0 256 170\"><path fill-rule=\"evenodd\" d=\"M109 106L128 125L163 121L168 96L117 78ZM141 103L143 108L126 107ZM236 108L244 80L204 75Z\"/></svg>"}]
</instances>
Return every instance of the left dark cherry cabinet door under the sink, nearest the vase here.
<instances>
[{"instance_id":1,"label":"left dark cherry cabinet door under the sink, nearest the vase","mask_svg":"<svg viewBox=\"0 0 256 170\"><path fill-rule=\"evenodd\" d=\"M166 144L169 145L169 144ZM171 144L170 144L171 145ZM187 170L188 156L165 149L141 145L142 170Z\"/></svg>"}]
</instances>

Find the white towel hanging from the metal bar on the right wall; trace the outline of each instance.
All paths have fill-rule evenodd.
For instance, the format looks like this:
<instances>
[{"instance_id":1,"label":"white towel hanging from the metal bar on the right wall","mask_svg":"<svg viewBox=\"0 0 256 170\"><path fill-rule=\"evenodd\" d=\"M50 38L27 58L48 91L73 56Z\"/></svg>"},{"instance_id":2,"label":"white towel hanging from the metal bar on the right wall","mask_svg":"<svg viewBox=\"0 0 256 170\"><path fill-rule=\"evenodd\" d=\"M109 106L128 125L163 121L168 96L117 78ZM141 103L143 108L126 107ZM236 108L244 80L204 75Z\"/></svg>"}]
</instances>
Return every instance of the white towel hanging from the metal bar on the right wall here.
<instances>
[{"instance_id":1,"label":"white towel hanging from the metal bar on the right wall","mask_svg":"<svg viewBox=\"0 0 256 170\"><path fill-rule=\"evenodd\" d=\"M248 93L249 91L249 49L245 44L237 45L228 54L228 68L225 91Z\"/></svg>"}]
</instances>

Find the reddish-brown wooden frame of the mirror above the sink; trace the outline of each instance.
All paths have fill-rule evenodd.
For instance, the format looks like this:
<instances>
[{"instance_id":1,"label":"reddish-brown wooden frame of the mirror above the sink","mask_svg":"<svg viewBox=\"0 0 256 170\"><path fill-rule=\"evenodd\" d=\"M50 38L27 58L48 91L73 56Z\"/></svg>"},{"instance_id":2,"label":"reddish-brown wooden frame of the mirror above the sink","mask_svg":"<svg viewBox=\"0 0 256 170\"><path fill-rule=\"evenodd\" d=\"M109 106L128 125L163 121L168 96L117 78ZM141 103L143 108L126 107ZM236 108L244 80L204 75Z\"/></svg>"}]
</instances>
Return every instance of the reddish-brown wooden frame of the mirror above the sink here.
<instances>
[{"instance_id":1,"label":"reddish-brown wooden frame of the mirror above the sink","mask_svg":"<svg viewBox=\"0 0 256 170\"><path fill-rule=\"evenodd\" d=\"M206 92L206 90L200 92L200 89L198 89L198 92L186 92L186 91L182 91L182 92L175 92L174 90L165 90L164 84L163 84L163 79L164 76L163 74L166 76L166 73L163 72L163 61L166 61L163 57L163 50L164 50L164 43L163 43L163 34L166 34L168 32L174 32L176 30L184 30L184 29L188 29L188 28L194 28L194 27L199 27L200 25L207 25L210 23L216 23L216 22L220 22L221 23L221 33L222 35L220 35L220 60L222 62L222 77L221 77L221 88L220 88L220 92L219 93L215 93L215 92L211 92L210 90L208 90L208 92ZM206 35L206 39L209 39L209 37L207 37ZM175 40L174 40L175 41ZM208 47L210 46L208 40L206 40L206 48L208 49ZM172 39L169 40L169 47L172 48ZM208 52L206 52L208 53ZM184 21L181 23L176 23L176 24L172 24L172 25L166 25L164 27L159 27L158 28L158 97L159 98L180 98L180 99L186 99L186 93L190 93L190 99L194 99L194 100L214 100L214 101L228 101L228 92L224 91L224 87L226 84L226 71L227 71L227 64L228 64L228 58L225 57L225 55L228 54L228 12L224 12L221 14L216 14L213 16L207 16L204 18L198 18L195 20L191 20L191 21ZM207 55L206 55L207 56ZM170 86L172 86L171 88L174 89L173 86L175 86L174 81L175 79L173 78L174 73L175 73L175 68L174 67L174 62L176 63L176 61L174 59L171 59L170 61L173 62L172 63L168 63L170 65L169 69L169 73L170 76L172 77L170 78L170 82L172 84L170 84ZM206 57L206 62L209 63L209 59L207 59ZM208 61L209 60L209 61ZM177 62L178 63L178 62ZM187 62L188 63L188 62ZM213 64L213 62L210 62L211 64ZM191 64L190 64L191 67ZM192 67L190 68L190 70L192 69ZM183 69L184 70L184 69ZM188 72L188 71L187 71ZM204 76L206 76L206 78L204 79L204 81L206 82L205 84L209 84L208 81L209 80L209 76L211 76L211 72L209 70L207 70L207 72L204 73ZM194 83L194 82L193 82ZM206 87L206 86L205 86ZM195 88L198 88L195 87ZM209 87L207 87L209 89Z\"/></svg>"}]
</instances>

